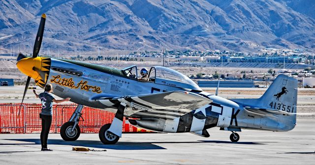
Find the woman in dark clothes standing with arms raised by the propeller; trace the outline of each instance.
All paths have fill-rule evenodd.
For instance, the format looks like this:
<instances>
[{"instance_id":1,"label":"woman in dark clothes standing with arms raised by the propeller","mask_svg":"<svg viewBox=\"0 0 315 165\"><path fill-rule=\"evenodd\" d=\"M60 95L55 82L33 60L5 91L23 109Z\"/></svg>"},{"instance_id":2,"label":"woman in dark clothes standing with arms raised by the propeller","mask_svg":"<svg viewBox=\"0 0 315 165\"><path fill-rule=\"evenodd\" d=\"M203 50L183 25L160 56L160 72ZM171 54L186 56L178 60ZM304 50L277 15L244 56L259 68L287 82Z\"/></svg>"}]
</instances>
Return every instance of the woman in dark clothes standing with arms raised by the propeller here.
<instances>
[{"instance_id":1,"label":"woman in dark clothes standing with arms raised by the propeller","mask_svg":"<svg viewBox=\"0 0 315 165\"><path fill-rule=\"evenodd\" d=\"M39 118L41 119L40 142L42 151L53 151L52 149L47 148L48 133L53 117L53 102L61 103L70 100L70 98L57 100L50 94L52 91L53 86L51 84L46 84L45 91L39 95L33 90L36 98L39 98L42 104L41 112L39 113Z\"/></svg>"}]
</instances>

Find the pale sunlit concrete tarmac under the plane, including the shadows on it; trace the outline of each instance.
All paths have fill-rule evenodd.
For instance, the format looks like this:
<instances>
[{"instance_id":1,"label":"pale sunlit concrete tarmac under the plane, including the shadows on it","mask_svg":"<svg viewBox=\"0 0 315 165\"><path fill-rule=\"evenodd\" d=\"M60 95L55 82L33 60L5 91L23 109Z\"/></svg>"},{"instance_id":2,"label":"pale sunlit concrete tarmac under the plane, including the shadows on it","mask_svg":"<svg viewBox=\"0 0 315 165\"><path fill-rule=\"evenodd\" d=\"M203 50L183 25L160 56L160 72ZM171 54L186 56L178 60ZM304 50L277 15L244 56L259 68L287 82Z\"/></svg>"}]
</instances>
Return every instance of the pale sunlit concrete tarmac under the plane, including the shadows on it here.
<instances>
[{"instance_id":1,"label":"pale sunlit concrete tarmac under the plane, including the shadows on it","mask_svg":"<svg viewBox=\"0 0 315 165\"><path fill-rule=\"evenodd\" d=\"M115 145L103 145L98 134L81 134L73 142L50 133L48 147L40 151L39 134L0 134L2 165L314 165L315 119L297 119L290 132L243 130L240 141L230 132L209 129L209 138L190 133L125 133ZM72 151L73 146L107 151Z\"/></svg>"}]
</instances>

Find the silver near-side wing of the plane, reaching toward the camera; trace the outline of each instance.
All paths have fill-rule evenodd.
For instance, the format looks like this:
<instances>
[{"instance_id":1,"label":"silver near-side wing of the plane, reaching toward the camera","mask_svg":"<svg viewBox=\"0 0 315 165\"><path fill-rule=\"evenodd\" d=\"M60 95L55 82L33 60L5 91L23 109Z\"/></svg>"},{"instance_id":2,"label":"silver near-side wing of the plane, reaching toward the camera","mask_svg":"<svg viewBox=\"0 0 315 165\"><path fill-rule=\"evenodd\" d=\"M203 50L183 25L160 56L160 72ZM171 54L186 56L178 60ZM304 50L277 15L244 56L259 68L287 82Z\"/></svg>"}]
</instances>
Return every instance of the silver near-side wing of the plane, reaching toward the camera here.
<instances>
[{"instance_id":1,"label":"silver near-side wing of the plane, reaching toward the camera","mask_svg":"<svg viewBox=\"0 0 315 165\"><path fill-rule=\"evenodd\" d=\"M185 92L171 91L156 94L99 99L105 105L117 101L126 103L125 115L134 118L175 119L212 102L211 99Z\"/></svg>"}]
</instances>

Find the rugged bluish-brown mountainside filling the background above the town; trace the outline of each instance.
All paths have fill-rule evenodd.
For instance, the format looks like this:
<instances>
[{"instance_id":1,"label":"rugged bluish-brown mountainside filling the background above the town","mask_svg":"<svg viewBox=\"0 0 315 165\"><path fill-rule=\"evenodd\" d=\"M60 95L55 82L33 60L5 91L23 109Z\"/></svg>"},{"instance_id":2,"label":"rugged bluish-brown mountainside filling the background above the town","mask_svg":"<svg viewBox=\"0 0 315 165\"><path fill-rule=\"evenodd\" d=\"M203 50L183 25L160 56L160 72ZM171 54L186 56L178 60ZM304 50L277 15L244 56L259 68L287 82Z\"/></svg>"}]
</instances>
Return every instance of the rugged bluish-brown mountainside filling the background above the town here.
<instances>
[{"instance_id":1,"label":"rugged bluish-brown mountainside filling the background above the town","mask_svg":"<svg viewBox=\"0 0 315 165\"><path fill-rule=\"evenodd\" d=\"M42 50L52 52L314 50L314 7L315 0L2 0L0 48L32 52L46 13Z\"/></svg>"}]
</instances>

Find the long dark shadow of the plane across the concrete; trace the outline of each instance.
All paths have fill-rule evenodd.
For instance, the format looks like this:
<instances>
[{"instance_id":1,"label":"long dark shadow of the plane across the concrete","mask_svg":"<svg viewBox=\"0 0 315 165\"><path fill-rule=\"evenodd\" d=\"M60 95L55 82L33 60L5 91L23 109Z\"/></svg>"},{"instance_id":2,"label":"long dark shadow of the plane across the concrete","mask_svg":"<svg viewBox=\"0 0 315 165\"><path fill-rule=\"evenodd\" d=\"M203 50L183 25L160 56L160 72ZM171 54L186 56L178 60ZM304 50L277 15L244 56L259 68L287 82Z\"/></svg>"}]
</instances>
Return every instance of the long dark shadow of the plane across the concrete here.
<instances>
[{"instance_id":1,"label":"long dark shadow of the plane across the concrete","mask_svg":"<svg viewBox=\"0 0 315 165\"><path fill-rule=\"evenodd\" d=\"M40 139L5 139L15 141L25 141L32 143L9 143L0 145L30 145L40 144ZM166 149L156 144L163 143L232 143L232 144L264 144L263 142L230 142L230 141L217 141L217 140L199 140L199 141L155 141L155 142L118 142L114 145L104 145L97 140L76 140L76 141L63 141L60 139L48 139L48 144L54 145L69 145L69 146L81 146L81 147L92 147L92 148L103 148L103 149L114 149L114 150L157 150ZM269 143L269 142L267 142Z\"/></svg>"}]
</instances>

